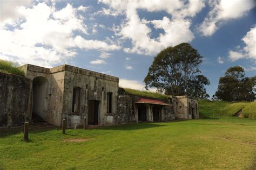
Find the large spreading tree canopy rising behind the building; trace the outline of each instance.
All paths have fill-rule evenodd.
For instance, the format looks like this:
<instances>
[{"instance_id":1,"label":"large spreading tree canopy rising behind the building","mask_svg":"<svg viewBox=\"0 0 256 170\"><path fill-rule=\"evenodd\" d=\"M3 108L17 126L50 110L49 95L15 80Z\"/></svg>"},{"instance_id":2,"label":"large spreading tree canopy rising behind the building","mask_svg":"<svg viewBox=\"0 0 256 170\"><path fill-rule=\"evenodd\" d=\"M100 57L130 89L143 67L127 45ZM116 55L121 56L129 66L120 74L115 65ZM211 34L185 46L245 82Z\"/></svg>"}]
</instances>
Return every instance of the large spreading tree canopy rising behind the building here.
<instances>
[{"instance_id":1,"label":"large spreading tree canopy rising behind the building","mask_svg":"<svg viewBox=\"0 0 256 170\"><path fill-rule=\"evenodd\" d=\"M154 58L144 79L146 89L156 87L166 95L209 97L205 85L209 85L210 81L199 70L202 59L188 43L167 47Z\"/></svg>"}]
</instances>

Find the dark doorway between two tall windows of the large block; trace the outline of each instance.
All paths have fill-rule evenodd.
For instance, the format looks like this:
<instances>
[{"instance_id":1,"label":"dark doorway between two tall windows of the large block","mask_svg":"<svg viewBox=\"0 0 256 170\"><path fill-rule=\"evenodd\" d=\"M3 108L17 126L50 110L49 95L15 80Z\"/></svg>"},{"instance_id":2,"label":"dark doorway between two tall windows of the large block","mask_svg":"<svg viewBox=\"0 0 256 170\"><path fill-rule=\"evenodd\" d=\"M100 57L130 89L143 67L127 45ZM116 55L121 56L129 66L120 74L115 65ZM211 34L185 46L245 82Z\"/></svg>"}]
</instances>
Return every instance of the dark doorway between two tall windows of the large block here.
<instances>
[{"instance_id":1,"label":"dark doorway between two tall windows of the large block","mask_svg":"<svg viewBox=\"0 0 256 170\"><path fill-rule=\"evenodd\" d=\"M88 124L89 125L99 124L99 101L89 100Z\"/></svg>"}]
</instances>

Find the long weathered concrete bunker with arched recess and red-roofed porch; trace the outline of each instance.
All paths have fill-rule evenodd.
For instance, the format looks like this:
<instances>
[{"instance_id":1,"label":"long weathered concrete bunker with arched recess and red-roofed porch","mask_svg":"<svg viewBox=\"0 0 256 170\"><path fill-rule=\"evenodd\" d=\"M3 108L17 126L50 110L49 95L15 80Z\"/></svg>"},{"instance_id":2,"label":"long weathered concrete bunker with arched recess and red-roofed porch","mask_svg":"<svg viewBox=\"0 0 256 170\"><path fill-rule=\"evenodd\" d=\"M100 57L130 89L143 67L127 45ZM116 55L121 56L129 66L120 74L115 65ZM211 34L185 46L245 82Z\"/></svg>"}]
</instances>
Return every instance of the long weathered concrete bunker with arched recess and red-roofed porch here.
<instances>
[{"instance_id":1,"label":"long weathered concrete bunker with arched recess and red-roofed porch","mask_svg":"<svg viewBox=\"0 0 256 170\"><path fill-rule=\"evenodd\" d=\"M29 88L31 95L27 90L29 97L26 97L26 101L17 99L21 104L27 103L26 106L22 105L28 109L18 108L23 115L27 111L25 119L33 117L35 120L39 117L43 121L61 126L62 119L65 118L67 127L73 128L82 126L84 117L88 124L93 125L199 117L198 100L190 96L158 98L129 93L118 87L118 77L69 65L53 68L24 65L19 68L30 79L23 84ZM18 89L25 90L22 86ZM17 91L14 93L18 94ZM18 105L21 104L18 102ZM6 110L6 104L2 105L3 110ZM17 111L12 112L17 115Z\"/></svg>"}]
</instances>

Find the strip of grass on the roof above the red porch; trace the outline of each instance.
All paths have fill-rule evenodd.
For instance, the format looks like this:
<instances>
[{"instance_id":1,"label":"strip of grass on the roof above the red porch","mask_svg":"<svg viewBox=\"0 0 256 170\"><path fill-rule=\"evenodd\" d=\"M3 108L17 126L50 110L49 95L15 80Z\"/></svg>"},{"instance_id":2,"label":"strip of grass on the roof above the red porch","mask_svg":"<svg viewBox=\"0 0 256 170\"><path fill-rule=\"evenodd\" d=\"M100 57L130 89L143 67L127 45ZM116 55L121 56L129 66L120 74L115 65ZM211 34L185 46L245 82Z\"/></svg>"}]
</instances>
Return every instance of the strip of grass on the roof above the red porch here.
<instances>
[{"instance_id":1,"label":"strip of grass on the roof above the red porch","mask_svg":"<svg viewBox=\"0 0 256 170\"><path fill-rule=\"evenodd\" d=\"M129 89L129 88L124 88L126 93L130 93L133 95L140 95L140 96L147 96L147 97L153 97L153 98L160 98L165 100L168 96L167 95L162 95L160 93L153 93L151 91L146 91L146 90L134 90L134 89Z\"/></svg>"}]
</instances>

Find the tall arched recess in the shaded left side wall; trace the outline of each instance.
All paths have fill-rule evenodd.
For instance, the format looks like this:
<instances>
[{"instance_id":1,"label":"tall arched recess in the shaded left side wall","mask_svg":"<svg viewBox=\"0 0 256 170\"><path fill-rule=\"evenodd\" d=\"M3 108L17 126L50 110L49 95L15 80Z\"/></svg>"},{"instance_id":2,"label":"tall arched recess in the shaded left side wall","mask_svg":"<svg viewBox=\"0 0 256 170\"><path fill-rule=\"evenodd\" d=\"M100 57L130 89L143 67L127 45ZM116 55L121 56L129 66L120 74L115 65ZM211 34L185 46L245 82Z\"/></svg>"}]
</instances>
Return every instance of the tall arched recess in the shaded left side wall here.
<instances>
[{"instance_id":1,"label":"tall arched recess in the shaded left side wall","mask_svg":"<svg viewBox=\"0 0 256 170\"><path fill-rule=\"evenodd\" d=\"M45 77L38 76L33 79L33 121L40 122L46 120L47 90L48 80Z\"/></svg>"}]
</instances>

